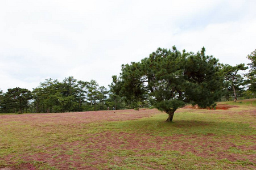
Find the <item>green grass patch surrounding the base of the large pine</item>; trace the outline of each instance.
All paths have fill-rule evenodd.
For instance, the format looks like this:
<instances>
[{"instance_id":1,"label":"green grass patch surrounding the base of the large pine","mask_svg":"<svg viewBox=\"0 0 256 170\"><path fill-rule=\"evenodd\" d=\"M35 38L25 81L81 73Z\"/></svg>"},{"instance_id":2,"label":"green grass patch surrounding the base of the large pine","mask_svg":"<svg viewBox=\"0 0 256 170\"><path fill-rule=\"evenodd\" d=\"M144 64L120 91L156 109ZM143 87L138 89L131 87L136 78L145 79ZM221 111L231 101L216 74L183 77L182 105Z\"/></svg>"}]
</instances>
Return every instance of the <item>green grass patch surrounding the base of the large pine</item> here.
<instances>
[{"instance_id":1,"label":"green grass patch surrounding the base of the large pine","mask_svg":"<svg viewBox=\"0 0 256 170\"><path fill-rule=\"evenodd\" d=\"M209 111L211 112L211 111ZM222 114L189 113L175 114L174 122L164 122L167 114L134 121L109 122L105 128L127 133L170 136L174 134L215 134L215 135L255 135L255 129L248 123L223 119ZM227 117L227 116L224 116Z\"/></svg>"}]
</instances>

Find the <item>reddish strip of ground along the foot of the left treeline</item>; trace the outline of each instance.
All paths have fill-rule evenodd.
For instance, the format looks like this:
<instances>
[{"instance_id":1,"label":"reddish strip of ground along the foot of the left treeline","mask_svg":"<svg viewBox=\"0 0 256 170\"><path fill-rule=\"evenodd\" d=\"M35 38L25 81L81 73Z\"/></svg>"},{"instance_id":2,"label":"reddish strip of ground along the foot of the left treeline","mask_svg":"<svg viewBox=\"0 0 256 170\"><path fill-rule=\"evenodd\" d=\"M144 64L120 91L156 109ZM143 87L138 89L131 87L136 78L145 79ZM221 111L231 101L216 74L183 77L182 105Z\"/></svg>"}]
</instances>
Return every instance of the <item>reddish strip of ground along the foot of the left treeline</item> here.
<instances>
[{"instance_id":1,"label":"reddish strip of ground along the foot of the left treeline","mask_svg":"<svg viewBox=\"0 0 256 170\"><path fill-rule=\"evenodd\" d=\"M90 111L90 112L69 112L69 113L40 113L40 114L11 114L2 115L1 120L6 125L11 121L24 122L32 125L42 124L87 124L90 122L102 121L126 121L136 120L138 118L150 117L156 113L160 113L157 109L140 109L135 111L129 110L116 110L116 111ZM6 120L6 121L5 121Z\"/></svg>"}]
</instances>

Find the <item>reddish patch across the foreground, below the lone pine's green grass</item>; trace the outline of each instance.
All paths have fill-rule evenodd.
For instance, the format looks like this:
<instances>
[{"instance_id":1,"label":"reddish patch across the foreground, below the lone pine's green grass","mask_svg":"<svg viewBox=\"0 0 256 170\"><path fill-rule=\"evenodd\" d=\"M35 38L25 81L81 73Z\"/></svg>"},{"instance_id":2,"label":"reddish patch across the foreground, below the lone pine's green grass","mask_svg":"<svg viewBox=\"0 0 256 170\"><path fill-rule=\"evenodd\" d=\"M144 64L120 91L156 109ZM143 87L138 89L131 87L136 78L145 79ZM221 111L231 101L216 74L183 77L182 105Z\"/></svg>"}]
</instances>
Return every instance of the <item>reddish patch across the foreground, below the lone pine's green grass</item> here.
<instances>
[{"instance_id":1,"label":"reddish patch across the foreground, below the lone pine's green grass","mask_svg":"<svg viewBox=\"0 0 256 170\"><path fill-rule=\"evenodd\" d=\"M232 136L214 138L214 134L207 135L172 135L171 137L153 137L148 134L131 134L125 132L109 132L98 134L86 134L84 141L66 142L61 145L54 145L45 150L54 153L59 148L60 154L53 158L54 154L36 153L32 156L23 157L26 161L44 161L56 168L65 169L72 163L77 169L93 168L82 165L80 160L84 159L83 154L87 152L86 159L93 160L91 165L101 165L104 163L113 163L122 165L123 160L127 157L113 156L109 159L108 153L118 150L127 150L139 152L142 150L159 150L159 151L179 151L181 155L191 152L196 156L203 158L228 159L231 162L237 160L255 162L256 155L240 155L227 153L230 147L240 150L256 150L256 145L248 148L247 146L234 145ZM189 140L188 140L189 139ZM168 141L168 142L167 142ZM67 154L67 149L73 151L73 155ZM93 152L90 152L93 151ZM155 152L146 152L137 154L141 156L160 156ZM58 164L62 161L61 164Z\"/></svg>"}]
</instances>

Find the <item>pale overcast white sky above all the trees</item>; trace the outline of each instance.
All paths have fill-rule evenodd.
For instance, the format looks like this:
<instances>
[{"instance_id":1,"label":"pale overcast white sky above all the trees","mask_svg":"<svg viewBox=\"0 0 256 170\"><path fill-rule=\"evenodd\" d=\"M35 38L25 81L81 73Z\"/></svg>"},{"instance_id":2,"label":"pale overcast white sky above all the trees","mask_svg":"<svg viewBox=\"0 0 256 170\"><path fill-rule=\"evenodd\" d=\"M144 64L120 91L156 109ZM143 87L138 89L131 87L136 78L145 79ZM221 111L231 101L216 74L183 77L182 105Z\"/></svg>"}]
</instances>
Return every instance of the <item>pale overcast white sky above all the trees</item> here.
<instances>
[{"instance_id":1,"label":"pale overcast white sky above all the trees","mask_svg":"<svg viewBox=\"0 0 256 170\"><path fill-rule=\"evenodd\" d=\"M0 0L0 89L68 76L108 87L121 65L156 49L249 63L256 1Z\"/></svg>"}]
</instances>

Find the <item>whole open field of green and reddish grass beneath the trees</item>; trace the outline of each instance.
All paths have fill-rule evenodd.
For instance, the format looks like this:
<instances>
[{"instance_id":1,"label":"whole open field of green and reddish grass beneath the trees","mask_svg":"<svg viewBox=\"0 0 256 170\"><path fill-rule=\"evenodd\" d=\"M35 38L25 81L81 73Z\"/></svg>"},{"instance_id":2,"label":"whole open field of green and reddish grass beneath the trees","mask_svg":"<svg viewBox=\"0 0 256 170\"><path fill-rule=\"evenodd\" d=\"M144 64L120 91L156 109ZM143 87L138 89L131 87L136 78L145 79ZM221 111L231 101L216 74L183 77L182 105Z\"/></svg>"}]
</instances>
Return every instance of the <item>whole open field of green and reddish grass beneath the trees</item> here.
<instances>
[{"instance_id":1,"label":"whole open field of green and reddish grass beneath the trees","mask_svg":"<svg viewBox=\"0 0 256 170\"><path fill-rule=\"evenodd\" d=\"M255 169L256 100L218 105L0 114L0 169Z\"/></svg>"}]
</instances>

